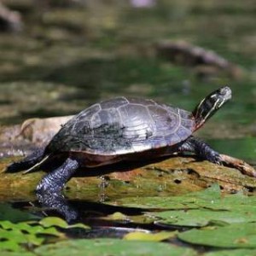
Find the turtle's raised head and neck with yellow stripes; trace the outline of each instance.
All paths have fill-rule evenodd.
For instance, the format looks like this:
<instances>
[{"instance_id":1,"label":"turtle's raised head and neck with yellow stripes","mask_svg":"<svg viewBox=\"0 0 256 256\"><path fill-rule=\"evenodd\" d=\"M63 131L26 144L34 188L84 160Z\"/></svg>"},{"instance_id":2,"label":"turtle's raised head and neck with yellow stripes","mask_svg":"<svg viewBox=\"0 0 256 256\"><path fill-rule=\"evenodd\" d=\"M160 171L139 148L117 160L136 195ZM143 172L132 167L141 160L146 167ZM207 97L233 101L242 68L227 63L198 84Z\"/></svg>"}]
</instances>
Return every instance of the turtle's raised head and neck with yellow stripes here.
<instances>
[{"instance_id":1,"label":"turtle's raised head and neck with yellow stripes","mask_svg":"<svg viewBox=\"0 0 256 256\"><path fill-rule=\"evenodd\" d=\"M218 108L222 107L225 102L231 99L230 87L224 86L218 90L212 91L207 97L205 97L193 111L195 118L195 130L201 127L207 119L209 119Z\"/></svg>"}]
</instances>

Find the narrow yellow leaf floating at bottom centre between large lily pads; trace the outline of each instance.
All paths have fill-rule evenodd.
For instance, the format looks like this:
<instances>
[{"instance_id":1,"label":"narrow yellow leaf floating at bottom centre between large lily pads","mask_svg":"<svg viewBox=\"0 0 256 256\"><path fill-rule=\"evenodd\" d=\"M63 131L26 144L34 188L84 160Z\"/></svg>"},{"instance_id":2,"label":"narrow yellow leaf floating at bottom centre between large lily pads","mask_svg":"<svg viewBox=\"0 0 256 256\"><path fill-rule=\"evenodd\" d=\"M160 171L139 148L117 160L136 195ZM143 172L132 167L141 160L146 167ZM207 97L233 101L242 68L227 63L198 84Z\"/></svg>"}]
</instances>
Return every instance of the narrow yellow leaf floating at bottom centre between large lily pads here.
<instances>
[{"instance_id":1,"label":"narrow yellow leaf floating at bottom centre between large lily pads","mask_svg":"<svg viewBox=\"0 0 256 256\"><path fill-rule=\"evenodd\" d=\"M124 236L125 240L140 240L140 241L163 241L177 236L177 231L174 232L158 232L158 233L145 233L145 232L131 232Z\"/></svg>"}]
</instances>

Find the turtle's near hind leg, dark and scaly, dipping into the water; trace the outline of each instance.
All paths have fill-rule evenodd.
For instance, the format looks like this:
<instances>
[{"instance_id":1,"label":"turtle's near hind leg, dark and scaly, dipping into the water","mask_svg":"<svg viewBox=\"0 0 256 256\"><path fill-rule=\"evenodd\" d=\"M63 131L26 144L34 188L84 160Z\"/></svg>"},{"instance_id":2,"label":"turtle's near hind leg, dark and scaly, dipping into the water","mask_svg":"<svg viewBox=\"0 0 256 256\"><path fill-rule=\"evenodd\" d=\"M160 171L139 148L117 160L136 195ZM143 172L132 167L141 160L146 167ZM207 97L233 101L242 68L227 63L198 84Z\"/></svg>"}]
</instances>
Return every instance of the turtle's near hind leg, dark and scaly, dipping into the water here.
<instances>
[{"instance_id":1,"label":"turtle's near hind leg, dark and scaly, dipping into the water","mask_svg":"<svg viewBox=\"0 0 256 256\"><path fill-rule=\"evenodd\" d=\"M73 173L79 168L77 160L67 159L62 166L49 172L37 187L38 201L43 207L50 207L60 212L67 222L78 218L78 212L67 204L64 196L61 194L65 183L73 176Z\"/></svg>"}]
</instances>

